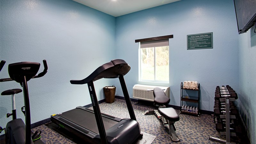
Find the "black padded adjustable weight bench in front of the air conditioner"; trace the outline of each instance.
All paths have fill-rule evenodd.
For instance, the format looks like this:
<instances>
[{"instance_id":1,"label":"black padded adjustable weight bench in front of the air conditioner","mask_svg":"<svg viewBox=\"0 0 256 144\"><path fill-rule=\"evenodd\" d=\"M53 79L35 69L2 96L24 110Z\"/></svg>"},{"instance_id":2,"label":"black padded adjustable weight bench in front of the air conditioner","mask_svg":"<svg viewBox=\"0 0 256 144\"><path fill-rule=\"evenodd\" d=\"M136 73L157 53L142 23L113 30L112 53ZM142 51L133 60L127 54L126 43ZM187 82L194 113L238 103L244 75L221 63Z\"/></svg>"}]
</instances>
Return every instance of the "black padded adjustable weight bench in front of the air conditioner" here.
<instances>
[{"instance_id":1,"label":"black padded adjustable weight bench in front of the air conditioner","mask_svg":"<svg viewBox=\"0 0 256 144\"><path fill-rule=\"evenodd\" d=\"M174 123L180 120L180 116L174 108L166 108L166 105L170 102L170 99L165 95L164 91L155 87L153 90L154 94L154 105L159 105L158 110L153 110L153 113L163 121L163 124L169 124L170 128L170 137L174 142L180 141L180 139L176 136L176 129ZM147 110L145 114L152 114L152 110ZM164 122L164 119L166 123Z\"/></svg>"}]
</instances>

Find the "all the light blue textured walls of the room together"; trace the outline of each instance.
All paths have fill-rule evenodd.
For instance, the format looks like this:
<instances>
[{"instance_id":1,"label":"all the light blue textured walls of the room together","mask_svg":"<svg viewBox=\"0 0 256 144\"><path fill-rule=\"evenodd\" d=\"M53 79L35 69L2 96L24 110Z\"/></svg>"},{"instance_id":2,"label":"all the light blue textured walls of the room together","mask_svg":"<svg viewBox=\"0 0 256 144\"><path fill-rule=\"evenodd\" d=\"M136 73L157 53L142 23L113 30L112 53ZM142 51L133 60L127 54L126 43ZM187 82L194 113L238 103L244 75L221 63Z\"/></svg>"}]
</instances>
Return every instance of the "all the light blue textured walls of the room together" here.
<instances>
[{"instance_id":1,"label":"all the light blue textured walls of the room together","mask_svg":"<svg viewBox=\"0 0 256 144\"><path fill-rule=\"evenodd\" d=\"M125 76L130 97L134 84L170 86L170 104L179 106L180 83L196 80L201 108L213 111L215 87L229 84L238 92L251 141L256 137L256 38L252 32L238 36L233 0L181 0L117 18L71 0L1 0L0 16L0 59L7 61L1 78L9 77L10 63L48 62L48 73L28 82L32 123L91 103L87 85L71 85L69 80L82 79L102 63L120 58L132 68ZM213 32L213 49L187 50L187 35L208 32ZM165 35L174 36L169 41L170 84L139 82L139 44L134 40ZM116 95L123 96L118 79L101 79L95 82L99 100L104 98L102 87L112 84ZM12 88L21 87L0 83L1 92ZM4 126L11 119L5 118L11 98L1 96L0 104ZM19 110L23 105L23 95L17 94L18 117L24 117Z\"/></svg>"}]
</instances>

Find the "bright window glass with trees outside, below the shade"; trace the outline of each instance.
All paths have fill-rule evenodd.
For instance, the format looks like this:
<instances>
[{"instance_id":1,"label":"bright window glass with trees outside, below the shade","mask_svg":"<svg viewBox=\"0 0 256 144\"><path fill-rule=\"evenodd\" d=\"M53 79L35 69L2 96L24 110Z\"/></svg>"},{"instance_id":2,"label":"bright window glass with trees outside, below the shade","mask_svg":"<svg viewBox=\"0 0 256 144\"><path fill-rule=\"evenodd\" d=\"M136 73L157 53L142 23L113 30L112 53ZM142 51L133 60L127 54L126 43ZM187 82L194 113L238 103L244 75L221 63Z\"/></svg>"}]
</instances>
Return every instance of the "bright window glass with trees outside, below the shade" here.
<instances>
[{"instance_id":1,"label":"bright window glass with trees outside, below the shade","mask_svg":"<svg viewBox=\"0 0 256 144\"><path fill-rule=\"evenodd\" d=\"M169 46L140 49L140 80L169 82Z\"/></svg>"}]
</instances>

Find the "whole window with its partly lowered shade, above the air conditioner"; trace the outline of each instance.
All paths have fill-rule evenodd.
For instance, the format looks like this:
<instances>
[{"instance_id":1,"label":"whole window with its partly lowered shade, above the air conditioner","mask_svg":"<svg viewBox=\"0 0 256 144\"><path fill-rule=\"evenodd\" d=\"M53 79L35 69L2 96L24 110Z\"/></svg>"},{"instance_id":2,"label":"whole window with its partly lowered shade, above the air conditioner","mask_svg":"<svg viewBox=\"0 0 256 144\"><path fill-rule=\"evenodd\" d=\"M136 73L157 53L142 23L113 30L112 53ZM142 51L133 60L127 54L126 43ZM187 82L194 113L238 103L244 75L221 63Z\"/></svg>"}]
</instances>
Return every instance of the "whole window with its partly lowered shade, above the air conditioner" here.
<instances>
[{"instance_id":1,"label":"whole window with its partly lowered shade, above the air conditioner","mask_svg":"<svg viewBox=\"0 0 256 144\"><path fill-rule=\"evenodd\" d=\"M169 37L139 42L139 80L169 83Z\"/></svg>"}]
</instances>

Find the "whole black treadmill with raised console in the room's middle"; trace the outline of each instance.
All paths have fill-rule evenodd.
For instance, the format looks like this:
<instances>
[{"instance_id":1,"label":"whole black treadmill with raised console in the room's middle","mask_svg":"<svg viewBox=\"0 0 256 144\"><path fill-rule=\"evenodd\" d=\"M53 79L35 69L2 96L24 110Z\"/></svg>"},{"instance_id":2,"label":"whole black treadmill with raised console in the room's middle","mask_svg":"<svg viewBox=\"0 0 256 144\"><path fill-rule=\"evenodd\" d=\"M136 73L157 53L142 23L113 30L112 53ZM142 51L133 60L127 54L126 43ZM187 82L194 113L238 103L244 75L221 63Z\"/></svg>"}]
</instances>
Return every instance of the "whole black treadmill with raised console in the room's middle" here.
<instances>
[{"instance_id":1,"label":"whole black treadmill with raised console in the room's middle","mask_svg":"<svg viewBox=\"0 0 256 144\"><path fill-rule=\"evenodd\" d=\"M85 79L70 80L71 84L88 84L93 110L79 106L52 115L51 121L90 143L135 143L142 134L124 82L124 75L130 69L131 67L124 60L116 59L103 64ZM120 119L100 113L93 82L101 78L119 78L130 118Z\"/></svg>"}]
</instances>

